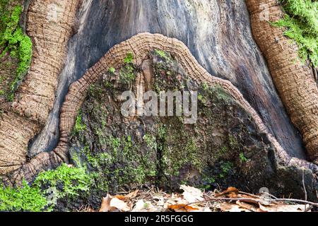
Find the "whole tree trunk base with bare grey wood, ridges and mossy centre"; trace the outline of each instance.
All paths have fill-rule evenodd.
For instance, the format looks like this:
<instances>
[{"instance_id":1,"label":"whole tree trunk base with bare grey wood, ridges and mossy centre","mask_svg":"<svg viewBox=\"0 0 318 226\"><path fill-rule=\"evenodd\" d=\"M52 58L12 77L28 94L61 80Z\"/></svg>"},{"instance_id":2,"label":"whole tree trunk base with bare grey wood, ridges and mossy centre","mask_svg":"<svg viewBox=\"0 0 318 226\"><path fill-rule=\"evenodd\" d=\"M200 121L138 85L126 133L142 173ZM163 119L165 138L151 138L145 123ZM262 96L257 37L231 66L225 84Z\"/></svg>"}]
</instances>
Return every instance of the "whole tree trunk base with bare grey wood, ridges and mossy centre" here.
<instances>
[{"instance_id":1,"label":"whole tree trunk base with bare grey wood, ridges and mossy centre","mask_svg":"<svg viewBox=\"0 0 318 226\"><path fill-rule=\"evenodd\" d=\"M247 6L243 0L30 1L33 61L13 102L0 102L1 177L12 185L32 182L42 170L71 162L97 173L96 185L107 178L107 186L90 191L95 198L136 183L176 189L182 182L253 192L265 186L302 198L304 175L309 198L317 199L317 165L307 162L292 124L314 160L317 86L301 79L309 74L305 66L281 64L285 52L268 44L272 32L289 48L287 38L257 21L256 2ZM271 48L278 51L273 58ZM124 63L129 53L134 59ZM285 67L295 76L280 73ZM134 79L120 81L119 72L130 69ZM186 81L199 92L196 126L178 117L119 114L121 91L137 97L155 88L184 92L178 84ZM299 96L285 89L292 82Z\"/></svg>"}]
</instances>

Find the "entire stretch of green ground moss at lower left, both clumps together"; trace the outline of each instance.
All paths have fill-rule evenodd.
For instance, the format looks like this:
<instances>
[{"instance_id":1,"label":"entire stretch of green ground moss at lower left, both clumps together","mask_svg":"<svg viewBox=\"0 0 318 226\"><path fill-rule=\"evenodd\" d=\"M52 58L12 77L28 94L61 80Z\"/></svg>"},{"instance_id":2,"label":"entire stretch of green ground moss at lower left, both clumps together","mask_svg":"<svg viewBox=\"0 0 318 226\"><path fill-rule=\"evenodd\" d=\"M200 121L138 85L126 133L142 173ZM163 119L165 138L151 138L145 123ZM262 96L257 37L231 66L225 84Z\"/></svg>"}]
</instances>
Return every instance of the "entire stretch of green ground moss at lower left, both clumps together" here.
<instances>
[{"instance_id":1,"label":"entire stretch of green ground moss at lower left, both clumps together","mask_svg":"<svg viewBox=\"0 0 318 226\"><path fill-rule=\"evenodd\" d=\"M0 211L52 211L57 200L85 196L90 190L93 175L84 167L64 164L54 170L41 172L33 184L23 181L22 186L0 186Z\"/></svg>"}]
</instances>

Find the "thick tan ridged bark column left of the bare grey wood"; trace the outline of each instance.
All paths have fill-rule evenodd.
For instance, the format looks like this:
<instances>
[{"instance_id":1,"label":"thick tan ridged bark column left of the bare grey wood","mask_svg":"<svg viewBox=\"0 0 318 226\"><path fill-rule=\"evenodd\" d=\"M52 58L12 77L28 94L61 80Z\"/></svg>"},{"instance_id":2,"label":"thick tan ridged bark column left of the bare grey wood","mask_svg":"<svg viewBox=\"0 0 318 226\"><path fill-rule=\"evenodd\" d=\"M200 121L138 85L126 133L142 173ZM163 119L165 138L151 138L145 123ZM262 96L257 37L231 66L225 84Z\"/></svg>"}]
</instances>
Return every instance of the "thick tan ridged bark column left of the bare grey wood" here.
<instances>
[{"instance_id":1,"label":"thick tan ridged bark column left of the bare grey wood","mask_svg":"<svg viewBox=\"0 0 318 226\"><path fill-rule=\"evenodd\" d=\"M33 61L14 101L1 106L0 175L15 169L35 174L40 170L37 166L42 169L62 162L55 153L42 153L28 162L28 143L52 109L77 4L78 0L34 0L30 4L27 31L33 40Z\"/></svg>"}]
</instances>

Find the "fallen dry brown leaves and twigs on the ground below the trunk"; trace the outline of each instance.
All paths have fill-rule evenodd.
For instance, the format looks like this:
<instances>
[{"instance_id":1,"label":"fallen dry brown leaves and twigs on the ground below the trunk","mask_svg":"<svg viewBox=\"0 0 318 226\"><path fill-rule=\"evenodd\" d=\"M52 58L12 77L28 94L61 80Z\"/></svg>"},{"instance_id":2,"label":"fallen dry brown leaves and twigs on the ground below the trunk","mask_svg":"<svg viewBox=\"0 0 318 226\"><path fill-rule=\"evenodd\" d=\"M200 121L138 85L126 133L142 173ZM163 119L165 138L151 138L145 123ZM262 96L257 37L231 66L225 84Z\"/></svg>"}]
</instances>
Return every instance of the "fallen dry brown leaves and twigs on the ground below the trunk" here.
<instances>
[{"instance_id":1,"label":"fallen dry brown leaves and twigs on the ground below the trunk","mask_svg":"<svg viewBox=\"0 0 318 226\"><path fill-rule=\"evenodd\" d=\"M318 203L292 198L276 198L263 192L254 195L234 187L203 192L192 186L180 186L182 194L167 194L155 187L107 195L99 210L83 206L78 212L314 212Z\"/></svg>"}]
</instances>

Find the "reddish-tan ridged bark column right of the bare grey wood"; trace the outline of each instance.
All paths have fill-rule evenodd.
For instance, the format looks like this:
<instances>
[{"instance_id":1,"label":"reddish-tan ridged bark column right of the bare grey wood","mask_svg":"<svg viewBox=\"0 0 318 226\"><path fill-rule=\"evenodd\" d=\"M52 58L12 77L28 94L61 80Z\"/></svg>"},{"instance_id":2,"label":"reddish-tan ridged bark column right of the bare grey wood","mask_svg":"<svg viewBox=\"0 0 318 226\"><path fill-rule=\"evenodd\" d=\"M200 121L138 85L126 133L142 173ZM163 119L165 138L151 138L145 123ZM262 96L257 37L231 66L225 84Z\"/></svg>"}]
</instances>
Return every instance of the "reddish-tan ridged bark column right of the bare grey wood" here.
<instances>
[{"instance_id":1,"label":"reddish-tan ridged bark column right of the bare grey wood","mask_svg":"<svg viewBox=\"0 0 318 226\"><path fill-rule=\"evenodd\" d=\"M293 124L302 133L310 160L318 163L318 88L310 66L302 64L298 46L269 21L283 18L276 0L246 0L252 32L267 59L278 93Z\"/></svg>"}]
</instances>

